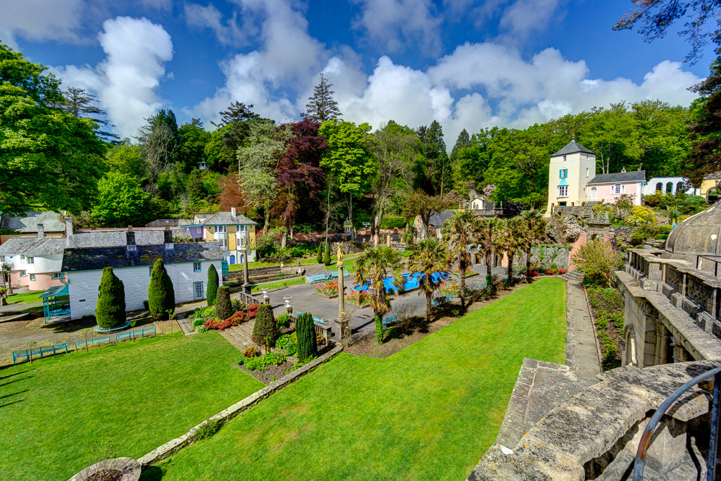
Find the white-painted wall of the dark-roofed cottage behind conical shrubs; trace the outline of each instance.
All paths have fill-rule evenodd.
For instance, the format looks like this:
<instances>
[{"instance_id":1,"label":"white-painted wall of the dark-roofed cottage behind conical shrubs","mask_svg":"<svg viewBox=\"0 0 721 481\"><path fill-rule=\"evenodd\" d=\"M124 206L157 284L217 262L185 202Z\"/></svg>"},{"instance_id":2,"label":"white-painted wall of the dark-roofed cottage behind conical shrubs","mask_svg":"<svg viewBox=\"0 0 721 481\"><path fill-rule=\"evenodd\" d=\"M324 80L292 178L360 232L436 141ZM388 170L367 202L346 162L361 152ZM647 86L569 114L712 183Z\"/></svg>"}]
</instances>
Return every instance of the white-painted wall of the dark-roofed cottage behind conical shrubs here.
<instances>
[{"instance_id":1,"label":"white-painted wall of the dark-roofed cottage behind conical shrubs","mask_svg":"<svg viewBox=\"0 0 721 481\"><path fill-rule=\"evenodd\" d=\"M175 291L175 302L193 301L193 283L203 281L203 295L208 291L208 268L216 266L218 280L221 278L221 261L204 260L200 272L193 272L193 262L166 264L165 269L170 276ZM141 265L133 268L114 268L112 270L123 281L125 287L125 310L137 311L144 309L143 301L148 300L150 286L149 266ZM80 270L67 273L68 294L70 296L70 315L72 319L80 319L86 314L94 315L97 305L98 287L102 270Z\"/></svg>"}]
</instances>

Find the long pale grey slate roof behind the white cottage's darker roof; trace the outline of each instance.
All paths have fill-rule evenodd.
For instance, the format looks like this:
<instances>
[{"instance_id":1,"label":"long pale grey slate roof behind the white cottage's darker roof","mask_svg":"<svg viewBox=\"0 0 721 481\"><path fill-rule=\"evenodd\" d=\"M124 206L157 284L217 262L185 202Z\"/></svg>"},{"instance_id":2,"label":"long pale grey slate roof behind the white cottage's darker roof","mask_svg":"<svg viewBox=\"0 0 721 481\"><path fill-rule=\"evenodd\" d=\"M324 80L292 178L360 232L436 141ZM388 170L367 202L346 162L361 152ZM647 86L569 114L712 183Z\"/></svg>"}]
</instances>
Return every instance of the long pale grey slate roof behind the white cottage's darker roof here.
<instances>
[{"instance_id":1,"label":"long pale grey slate roof behind the white cottage's darker roof","mask_svg":"<svg viewBox=\"0 0 721 481\"><path fill-rule=\"evenodd\" d=\"M187 229L170 229L173 236L190 237ZM163 244L163 231L134 231L136 245ZM59 255L66 248L123 247L125 231L80 232L67 238L14 237L0 245L0 255ZM176 244L180 245L180 244Z\"/></svg>"}]
</instances>

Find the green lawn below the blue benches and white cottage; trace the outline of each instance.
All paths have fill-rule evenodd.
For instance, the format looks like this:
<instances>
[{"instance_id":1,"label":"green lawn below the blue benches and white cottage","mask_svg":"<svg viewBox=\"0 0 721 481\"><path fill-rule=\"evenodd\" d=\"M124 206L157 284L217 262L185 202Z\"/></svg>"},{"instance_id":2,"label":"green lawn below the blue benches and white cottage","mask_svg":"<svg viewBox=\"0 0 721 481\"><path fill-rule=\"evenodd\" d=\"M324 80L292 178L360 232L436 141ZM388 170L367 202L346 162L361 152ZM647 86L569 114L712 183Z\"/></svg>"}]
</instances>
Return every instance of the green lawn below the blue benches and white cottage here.
<instances>
[{"instance_id":1,"label":"green lawn below the blue benches and white cottage","mask_svg":"<svg viewBox=\"0 0 721 481\"><path fill-rule=\"evenodd\" d=\"M216 332L163 335L0 369L0 472L66 480L95 441L135 458L262 388Z\"/></svg>"}]
</instances>

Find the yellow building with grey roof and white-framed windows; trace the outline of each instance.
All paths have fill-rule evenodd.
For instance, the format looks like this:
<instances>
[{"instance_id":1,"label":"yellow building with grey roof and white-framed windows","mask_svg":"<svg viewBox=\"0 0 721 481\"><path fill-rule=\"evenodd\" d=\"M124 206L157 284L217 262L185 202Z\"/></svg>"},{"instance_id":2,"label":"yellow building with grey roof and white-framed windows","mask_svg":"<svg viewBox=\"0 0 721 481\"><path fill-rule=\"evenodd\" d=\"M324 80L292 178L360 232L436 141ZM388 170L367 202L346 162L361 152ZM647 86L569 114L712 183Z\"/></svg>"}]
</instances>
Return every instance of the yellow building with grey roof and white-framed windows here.
<instances>
[{"instance_id":1,"label":"yellow building with grey roof and white-framed windows","mask_svg":"<svg viewBox=\"0 0 721 481\"><path fill-rule=\"evenodd\" d=\"M193 216L193 224L187 227L193 239L205 242L218 242L223 250L223 258L229 264L243 262L247 245L248 262L256 258L255 228L257 222L251 221L232 207L230 212L203 213Z\"/></svg>"}]
</instances>

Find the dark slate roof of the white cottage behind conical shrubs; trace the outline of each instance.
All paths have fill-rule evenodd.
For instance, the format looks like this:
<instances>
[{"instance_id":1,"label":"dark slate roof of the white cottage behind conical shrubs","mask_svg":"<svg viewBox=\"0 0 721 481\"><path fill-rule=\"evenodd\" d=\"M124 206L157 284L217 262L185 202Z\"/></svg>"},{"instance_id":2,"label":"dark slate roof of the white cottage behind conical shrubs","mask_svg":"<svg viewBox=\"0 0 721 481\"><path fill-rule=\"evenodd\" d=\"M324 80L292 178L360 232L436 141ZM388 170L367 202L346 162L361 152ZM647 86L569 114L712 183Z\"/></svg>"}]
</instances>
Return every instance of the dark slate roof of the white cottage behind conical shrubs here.
<instances>
[{"instance_id":1,"label":"dark slate roof of the white cottage behind conical shrubs","mask_svg":"<svg viewBox=\"0 0 721 481\"><path fill-rule=\"evenodd\" d=\"M99 270L103 268L128 268L153 265L162 259L166 264L177 262L200 262L219 260L223 252L217 242L188 242L174 244L166 249L164 244L138 245L137 250L128 251L125 245L118 247L90 247L87 249L66 249L63 255L63 272L76 270Z\"/></svg>"}]
</instances>

